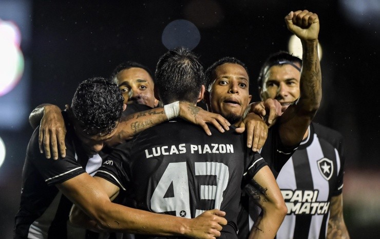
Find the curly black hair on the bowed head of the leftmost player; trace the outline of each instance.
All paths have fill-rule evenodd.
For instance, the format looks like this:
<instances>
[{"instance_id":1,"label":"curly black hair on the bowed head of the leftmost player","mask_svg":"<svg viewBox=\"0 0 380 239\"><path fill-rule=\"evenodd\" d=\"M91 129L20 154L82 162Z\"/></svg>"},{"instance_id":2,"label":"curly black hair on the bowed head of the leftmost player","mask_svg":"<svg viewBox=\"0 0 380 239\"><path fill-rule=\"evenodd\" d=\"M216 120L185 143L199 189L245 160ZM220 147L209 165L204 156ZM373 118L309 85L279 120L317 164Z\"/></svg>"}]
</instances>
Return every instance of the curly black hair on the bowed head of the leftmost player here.
<instances>
[{"instance_id":1,"label":"curly black hair on the bowed head of the leftmost player","mask_svg":"<svg viewBox=\"0 0 380 239\"><path fill-rule=\"evenodd\" d=\"M96 77L83 81L71 102L72 112L90 136L110 134L120 121L123 96L110 80Z\"/></svg>"}]
</instances>

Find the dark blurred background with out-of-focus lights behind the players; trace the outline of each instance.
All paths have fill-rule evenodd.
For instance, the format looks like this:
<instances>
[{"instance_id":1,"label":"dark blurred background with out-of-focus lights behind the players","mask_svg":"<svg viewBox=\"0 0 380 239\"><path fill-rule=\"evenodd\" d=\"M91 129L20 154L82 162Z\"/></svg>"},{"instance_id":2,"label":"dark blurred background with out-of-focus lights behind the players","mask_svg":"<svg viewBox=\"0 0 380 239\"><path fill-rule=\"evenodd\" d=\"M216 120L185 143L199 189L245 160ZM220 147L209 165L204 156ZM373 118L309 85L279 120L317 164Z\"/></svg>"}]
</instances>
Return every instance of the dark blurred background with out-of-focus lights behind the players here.
<instances>
[{"instance_id":1,"label":"dark blurred background with out-of-focus lights behind the players","mask_svg":"<svg viewBox=\"0 0 380 239\"><path fill-rule=\"evenodd\" d=\"M346 224L351 238L379 238L378 0L0 0L0 237L12 237L34 107L63 108L81 81L109 77L123 61L154 70L178 44L194 48L205 67L225 56L245 62L258 101L261 63L288 50L284 16L303 9L320 20L323 99L315 121L345 137Z\"/></svg>"}]
</instances>

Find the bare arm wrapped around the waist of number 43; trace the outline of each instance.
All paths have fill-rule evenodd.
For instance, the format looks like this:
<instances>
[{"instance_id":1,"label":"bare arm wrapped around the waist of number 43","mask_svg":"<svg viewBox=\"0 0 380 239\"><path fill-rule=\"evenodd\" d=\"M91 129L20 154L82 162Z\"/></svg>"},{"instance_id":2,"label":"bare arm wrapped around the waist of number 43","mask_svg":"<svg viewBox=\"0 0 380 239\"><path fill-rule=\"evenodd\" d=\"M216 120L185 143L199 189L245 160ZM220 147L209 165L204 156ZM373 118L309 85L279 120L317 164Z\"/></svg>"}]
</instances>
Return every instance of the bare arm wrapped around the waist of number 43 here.
<instances>
[{"instance_id":1,"label":"bare arm wrapped around the waist of number 43","mask_svg":"<svg viewBox=\"0 0 380 239\"><path fill-rule=\"evenodd\" d=\"M227 223L223 217L220 217L225 213L219 210L207 211L199 217L188 219L114 204L109 196L115 195L118 188L105 179L101 179L103 182L98 180L83 173L57 186L79 209L93 219L90 223L84 224L92 229L215 239L220 236L221 225ZM109 186L107 192L102 188ZM86 218L82 215L81 219L75 219L78 214L78 209L72 210L70 215L72 222L78 223Z\"/></svg>"}]
</instances>

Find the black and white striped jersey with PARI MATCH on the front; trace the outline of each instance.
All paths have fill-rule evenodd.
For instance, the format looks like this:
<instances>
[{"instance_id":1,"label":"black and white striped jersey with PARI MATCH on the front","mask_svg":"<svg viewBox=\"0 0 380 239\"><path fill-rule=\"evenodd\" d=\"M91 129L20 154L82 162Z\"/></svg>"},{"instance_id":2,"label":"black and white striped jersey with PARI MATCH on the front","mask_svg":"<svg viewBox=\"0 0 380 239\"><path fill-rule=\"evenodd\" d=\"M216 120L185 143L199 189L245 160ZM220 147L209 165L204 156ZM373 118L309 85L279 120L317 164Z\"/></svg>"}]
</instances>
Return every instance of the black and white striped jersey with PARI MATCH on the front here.
<instances>
[{"instance_id":1,"label":"black and white striped jersey with PARI MATCH on the front","mask_svg":"<svg viewBox=\"0 0 380 239\"><path fill-rule=\"evenodd\" d=\"M281 169L277 183L288 214L277 239L326 238L331 197L343 188L342 139L338 132L312 123L308 138Z\"/></svg>"}]
</instances>

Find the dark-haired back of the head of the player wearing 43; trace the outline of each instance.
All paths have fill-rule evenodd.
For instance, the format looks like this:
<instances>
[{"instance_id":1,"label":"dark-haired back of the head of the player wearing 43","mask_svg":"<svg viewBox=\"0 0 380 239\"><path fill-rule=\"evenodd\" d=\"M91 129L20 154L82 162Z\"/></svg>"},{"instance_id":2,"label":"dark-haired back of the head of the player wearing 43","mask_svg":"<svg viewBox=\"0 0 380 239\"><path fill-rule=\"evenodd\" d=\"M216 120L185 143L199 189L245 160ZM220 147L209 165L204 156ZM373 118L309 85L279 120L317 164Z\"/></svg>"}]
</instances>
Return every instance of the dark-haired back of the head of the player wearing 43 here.
<instances>
[{"instance_id":1,"label":"dark-haired back of the head of the player wearing 43","mask_svg":"<svg viewBox=\"0 0 380 239\"><path fill-rule=\"evenodd\" d=\"M156 86L160 100L197 102L204 84L203 66L198 57L183 47L167 51L156 66Z\"/></svg>"}]
</instances>

